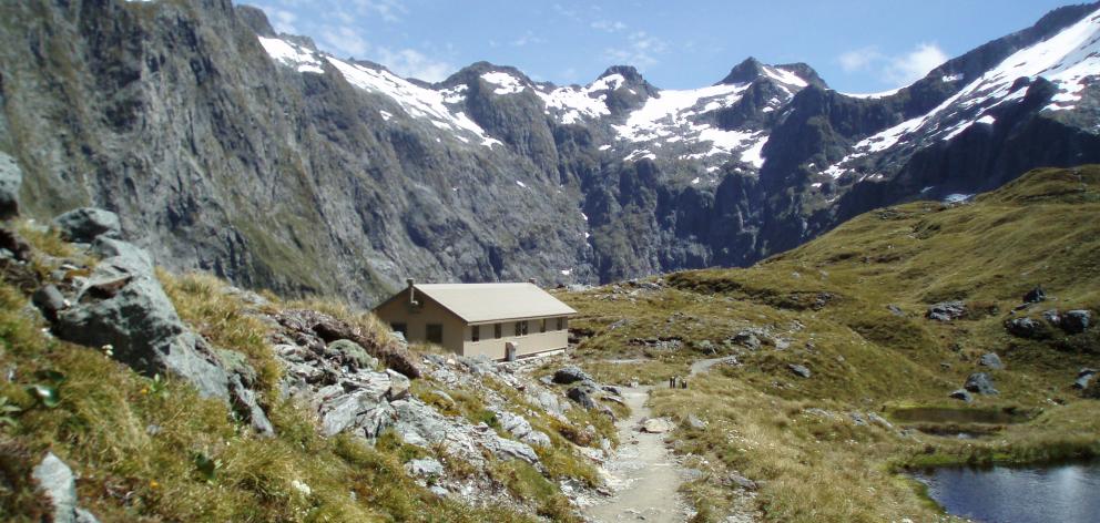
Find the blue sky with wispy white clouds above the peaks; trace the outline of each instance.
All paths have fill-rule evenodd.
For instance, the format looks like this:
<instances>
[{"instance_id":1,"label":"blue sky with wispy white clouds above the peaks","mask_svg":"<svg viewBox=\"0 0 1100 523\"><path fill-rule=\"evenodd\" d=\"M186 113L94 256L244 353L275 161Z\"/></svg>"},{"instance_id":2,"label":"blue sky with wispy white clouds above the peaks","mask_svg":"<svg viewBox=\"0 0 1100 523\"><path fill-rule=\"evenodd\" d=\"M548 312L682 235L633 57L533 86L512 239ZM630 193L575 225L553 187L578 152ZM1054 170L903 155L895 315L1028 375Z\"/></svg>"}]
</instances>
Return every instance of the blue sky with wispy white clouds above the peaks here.
<instances>
[{"instance_id":1,"label":"blue sky with wispy white clouds above the peaks","mask_svg":"<svg viewBox=\"0 0 1100 523\"><path fill-rule=\"evenodd\" d=\"M908 84L947 58L1031 25L1057 0L253 0L276 30L337 57L438 81L479 60L588 83L636 66L662 89L721 80L746 57L806 62L843 92Z\"/></svg>"}]
</instances>

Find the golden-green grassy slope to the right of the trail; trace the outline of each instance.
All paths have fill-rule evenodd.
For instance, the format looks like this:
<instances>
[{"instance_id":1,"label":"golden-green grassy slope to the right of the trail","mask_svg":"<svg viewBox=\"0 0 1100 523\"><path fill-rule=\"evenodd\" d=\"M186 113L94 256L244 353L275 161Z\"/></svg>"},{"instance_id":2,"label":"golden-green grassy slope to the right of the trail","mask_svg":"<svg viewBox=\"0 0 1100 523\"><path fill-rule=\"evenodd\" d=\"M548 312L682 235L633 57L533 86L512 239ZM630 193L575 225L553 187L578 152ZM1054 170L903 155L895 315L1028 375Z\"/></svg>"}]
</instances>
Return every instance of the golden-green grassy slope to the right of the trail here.
<instances>
[{"instance_id":1,"label":"golden-green grassy slope to the right of the trail","mask_svg":"<svg viewBox=\"0 0 1100 523\"><path fill-rule=\"evenodd\" d=\"M655 394L658 411L679 418L693 412L711 422L675 434L680 450L702 455L705 463L696 464L711 474L685 489L701 503L700 519L720 515L729 492L717 480L730 470L764 480L757 500L775 521L934 519L934 507L892 473L895 465L1100 451L1100 406L1069 388L1079 367L1100 363L1098 329L1025 341L1002 327L1037 284L1055 299L1020 314L1087 308L1097 317L1098 216L1100 167L1039 170L972 205L918 202L868 213L747 269L678 273L666 278L669 288L635 296L604 288L564 299L581 311L574 327L594 334L579 355L611 381L684 375L703 357L702 340L734 352L721 341L750 326L791 340L786 350L741 350L740 367L696 378L689 391ZM815 310L824 294L827 304ZM929 304L946 299L967 301L971 312L950 324L924 318ZM892 314L890 304L905 317ZM680 337L685 348L629 343L649 337ZM847 418L851 411L888 416L911 406L959 407L946 396L970 372L986 370L977 366L986 351L1007 365L991 371L1001 394L978 398L968 409L1009 408L1036 416L1033 421L965 424L996 435L960 442L923 433L899 438ZM631 357L643 362L600 362ZM814 375L796 378L787 363ZM805 411L811 407L839 416L814 416Z\"/></svg>"}]
</instances>

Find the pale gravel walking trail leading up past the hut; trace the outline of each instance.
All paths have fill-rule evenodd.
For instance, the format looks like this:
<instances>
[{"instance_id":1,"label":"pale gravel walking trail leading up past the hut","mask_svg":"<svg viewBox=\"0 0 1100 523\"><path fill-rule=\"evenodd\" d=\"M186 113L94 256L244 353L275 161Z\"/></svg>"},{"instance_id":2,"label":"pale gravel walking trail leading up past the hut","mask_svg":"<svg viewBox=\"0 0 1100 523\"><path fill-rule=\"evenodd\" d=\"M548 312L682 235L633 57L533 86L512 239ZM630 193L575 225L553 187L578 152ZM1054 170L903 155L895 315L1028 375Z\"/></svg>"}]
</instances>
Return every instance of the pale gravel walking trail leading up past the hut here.
<instances>
[{"instance_id":1,"label":"pale gravel walking trail leading up past the hut","mask_svg":"<svg viewBox=\"0 0 1100 523\"><path fill-rule=\"evenodd\" d=\"M696 361L691 366L691 376L731 360L732 357ZM651 389L622 389L631 413L630 418L619 421L619 441L622 444L603 465L608 486L613 494L584 509L584 515L590 521L679 523L690 516L691 511L678 492L683 483L683 470L665 447L666 434L639 430L642 421L653 416L645 406Z\"/></svg>"}]
</instances>

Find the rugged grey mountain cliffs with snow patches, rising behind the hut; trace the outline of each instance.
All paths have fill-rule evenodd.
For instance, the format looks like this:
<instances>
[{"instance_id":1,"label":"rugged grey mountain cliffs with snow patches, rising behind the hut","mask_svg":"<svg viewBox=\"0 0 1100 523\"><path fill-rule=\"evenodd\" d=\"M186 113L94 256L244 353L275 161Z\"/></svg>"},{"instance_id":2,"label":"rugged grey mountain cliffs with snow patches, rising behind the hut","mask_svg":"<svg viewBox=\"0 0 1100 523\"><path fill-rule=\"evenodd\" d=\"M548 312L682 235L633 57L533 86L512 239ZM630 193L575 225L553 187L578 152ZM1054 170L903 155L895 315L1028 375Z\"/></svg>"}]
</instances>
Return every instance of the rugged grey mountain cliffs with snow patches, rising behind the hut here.
<instances>
[{"instance_id":1,"label":"rugged grey mountain cliffs with snow patches, rising behind the hut","mask_svg":"<svg viewBox=\"0 0 1100 523\"><path fill-rule=\"evenodd\" d=\"M867 208L1100 155L1097 4L879 96L754 59L690 91L483 62L426 84L230 1L0 9L0 148L27 212L112 208L160 264L292 295L748 264Z\"/></svg>"}]
</instances>

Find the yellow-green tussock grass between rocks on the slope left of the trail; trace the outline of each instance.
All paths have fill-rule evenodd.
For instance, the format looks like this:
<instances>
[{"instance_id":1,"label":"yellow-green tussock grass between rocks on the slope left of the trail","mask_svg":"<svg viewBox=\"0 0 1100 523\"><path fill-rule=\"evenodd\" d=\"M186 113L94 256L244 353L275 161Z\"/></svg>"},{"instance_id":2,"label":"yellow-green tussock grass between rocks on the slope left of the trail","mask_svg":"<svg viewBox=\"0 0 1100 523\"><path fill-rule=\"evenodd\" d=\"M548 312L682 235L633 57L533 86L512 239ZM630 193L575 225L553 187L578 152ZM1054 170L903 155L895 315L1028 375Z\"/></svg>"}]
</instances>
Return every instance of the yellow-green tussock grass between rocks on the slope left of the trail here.
<instances>
[{"instance_id":1,"label":"yellow-green tussock grass between rocks on the slope left of the trail","mask_svg":"<svg viewBox=\"0 0 1100 523\"><path fill-rule=\"evenodd\" d=\"M30 227L20 232L39 253L82 258L52 234ZM43 277L50 269L39 260L34 268ZM73 468L81 503L101 521L533 521L503 503L472 509L418 486L404 471L410 459L435 454L459 475L470 468L441 449L405 445L393 434L384 434L375 447L343 434L319 437L312 414L278 399L282 368L265 341L268 327L245 312L248 305L226 295L225 284L210 276L157 276L184 321L215 346L247 357L278 435L257 438L225 404L201 399L184 382L151 380L100 350L44 335L45 325L27 296L0 283L0 369L13 376L0 380L0 403L16 409L0 412L10 420L0 421L0 521L39 521L48 513L29 480L30 469L47 450ZM343 305L284 304L268 297L272 308L310 308L365 329L377 328L371 315ZM55 407L38 403L26 390L50 383L42 371L63 376ZM516 394L503 383L487 379L486 384ZM417 380L414 393L428 400L440 387L430 379ZM487 412L481 391L452 394L464 408L445 413L475 419ZM557 521L574 516L552 480L598 482L591 465L562 435L595 422L591 414L576 417L580 418L571 423L531 418L553 442L539 450L549 479L526 463L491 464L493 481ZM198 457L216 463L213 473L204 473Z\"/></svg>"}]
</instances>

